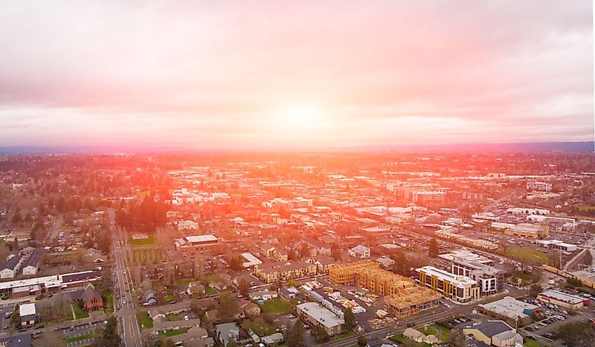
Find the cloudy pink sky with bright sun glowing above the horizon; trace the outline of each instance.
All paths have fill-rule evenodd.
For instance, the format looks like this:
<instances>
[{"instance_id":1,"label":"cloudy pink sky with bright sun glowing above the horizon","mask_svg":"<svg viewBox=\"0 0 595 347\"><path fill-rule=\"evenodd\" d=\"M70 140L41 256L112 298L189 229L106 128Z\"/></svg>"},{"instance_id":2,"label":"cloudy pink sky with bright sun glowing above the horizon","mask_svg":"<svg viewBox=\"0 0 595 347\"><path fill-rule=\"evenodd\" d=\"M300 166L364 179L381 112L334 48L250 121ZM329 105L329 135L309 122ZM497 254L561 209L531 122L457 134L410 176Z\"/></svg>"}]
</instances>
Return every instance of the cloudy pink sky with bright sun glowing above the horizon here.
<instances>
[{"instance_id":1,"label":"cloudy pink sky with bright sun glowing above the horizon","mask_svg":"<svg viewBox=\"0 0 595 347\"><path fill-rule=\"evenodd\" d=\"M0 0L0 146L594 139L591 0Z\"/></svg>"}]
</instances>

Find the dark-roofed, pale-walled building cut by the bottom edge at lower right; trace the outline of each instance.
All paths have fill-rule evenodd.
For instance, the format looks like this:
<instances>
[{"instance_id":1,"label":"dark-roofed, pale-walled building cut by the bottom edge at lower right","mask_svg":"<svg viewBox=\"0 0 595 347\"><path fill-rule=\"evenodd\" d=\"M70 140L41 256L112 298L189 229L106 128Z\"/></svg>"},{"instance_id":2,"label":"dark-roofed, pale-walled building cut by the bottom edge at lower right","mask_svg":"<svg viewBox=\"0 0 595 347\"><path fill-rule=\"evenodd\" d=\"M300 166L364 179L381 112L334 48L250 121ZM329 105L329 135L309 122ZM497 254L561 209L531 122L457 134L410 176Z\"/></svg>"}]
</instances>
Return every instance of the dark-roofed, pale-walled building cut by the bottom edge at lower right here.
<instances>
[{"instance_id":1,"label":"dark-roofed, pale-walled building cut by the bottom edge at lower right","mask_svg":"<svg viewBox=\"0 0 595 347\"><path fill-rule=\"evenodd\" d=\"M482 341L487 346L522 346L522 336L515 328L501 320L489 320L475 327L463 328L463 334L472 335L475 340Z\"/></svg>"}]
</instances>

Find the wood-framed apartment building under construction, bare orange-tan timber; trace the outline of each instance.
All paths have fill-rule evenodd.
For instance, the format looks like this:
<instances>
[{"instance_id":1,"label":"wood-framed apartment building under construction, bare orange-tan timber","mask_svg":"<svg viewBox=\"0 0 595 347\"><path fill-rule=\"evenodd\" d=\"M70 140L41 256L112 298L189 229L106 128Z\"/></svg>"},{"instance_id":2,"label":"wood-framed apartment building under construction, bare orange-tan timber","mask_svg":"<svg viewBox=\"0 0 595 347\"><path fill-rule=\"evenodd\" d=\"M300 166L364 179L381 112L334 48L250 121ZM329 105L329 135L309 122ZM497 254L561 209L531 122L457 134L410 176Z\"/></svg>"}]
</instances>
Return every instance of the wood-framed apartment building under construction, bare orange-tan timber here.
<instances>
[{"instance_id":1,"label":"wood-framed apartment building under construction, bare orange-tan timber","mask_svg":"<svg viewBox=\"0 0 595 347\"><path fill-rule=\"evenodd\" d=\"M337 286L360 286L384 297L384 305L395 317L414 315L435 308L441 294L416 286L412 279L382 270L370 260L331 265L329 281Z\"/></svg>"}]
</instances>

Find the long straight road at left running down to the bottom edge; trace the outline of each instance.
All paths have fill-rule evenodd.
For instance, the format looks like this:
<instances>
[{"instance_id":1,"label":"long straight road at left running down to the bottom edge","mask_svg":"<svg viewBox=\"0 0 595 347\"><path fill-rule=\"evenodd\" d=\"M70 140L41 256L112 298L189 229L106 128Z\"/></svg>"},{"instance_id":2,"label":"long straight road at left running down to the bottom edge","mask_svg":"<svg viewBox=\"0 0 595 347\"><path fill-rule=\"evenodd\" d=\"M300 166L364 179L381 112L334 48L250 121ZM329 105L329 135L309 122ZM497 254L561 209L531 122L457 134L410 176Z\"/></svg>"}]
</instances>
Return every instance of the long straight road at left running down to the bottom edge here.
<instances>
[{"instance_id":1,"label":"long straight road at left running down to the bottom edge","mask_svg":"<svg viewBox=\"0 0 595 347\"><path fill-rule=\"evenodd\" d=\"M121 232L115 234L120 236L120 240L123 240L125 237ZM132 300L132 289L130 288L132 280L130 279L130 271L126 267L125 255L118 241L116 239L113 242L114 271L116 277L114 293L120 294L120 298L115 299L114 297L114 300L115 305L118 305L118 303L121 305L120 310L117 310L116 316L120 321L119 327L123 335L124 346L141 347L141 334L134 308L134 300Z\"/></svg>"}]
</instances>

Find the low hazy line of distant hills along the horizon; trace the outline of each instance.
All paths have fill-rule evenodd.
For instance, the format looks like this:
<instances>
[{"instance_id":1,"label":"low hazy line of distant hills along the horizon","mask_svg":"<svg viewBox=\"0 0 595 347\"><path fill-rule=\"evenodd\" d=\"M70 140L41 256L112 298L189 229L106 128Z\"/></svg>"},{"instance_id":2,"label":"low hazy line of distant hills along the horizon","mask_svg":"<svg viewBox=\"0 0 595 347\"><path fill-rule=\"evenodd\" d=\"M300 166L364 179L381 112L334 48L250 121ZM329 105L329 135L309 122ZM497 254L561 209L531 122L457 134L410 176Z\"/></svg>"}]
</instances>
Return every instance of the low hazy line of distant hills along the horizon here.
<instances>
[{"instance_id":1,"label":"low hazy line of distant hills along the horizon","mask_svg":"<svg viewBox=\"0 0 595 347\"><path fill-rule=\"evenodd\" d=\"M49 153L182 153L194 151L227 151L226 149L201 149L190 147L35 147L35 146L6 146L0 147L0 154L49 154ZM312 151L313 149L305 149ZM238 151L229 149L229 151ZM251 151L246 149L246 151ZM256 151L267 151L256 149ZM270 149L280 151L280 149ZM281 149L281 151L283 151ZM299 151L299 149L292 149ZM402 144L402 145L373 145L337 147L316 149L316 151L399 151L399 152L595 152L595 141L567 141L567 142L527 142L508 144Z\"/></svg>"}]
</instances>

